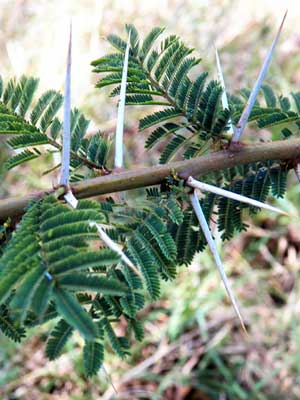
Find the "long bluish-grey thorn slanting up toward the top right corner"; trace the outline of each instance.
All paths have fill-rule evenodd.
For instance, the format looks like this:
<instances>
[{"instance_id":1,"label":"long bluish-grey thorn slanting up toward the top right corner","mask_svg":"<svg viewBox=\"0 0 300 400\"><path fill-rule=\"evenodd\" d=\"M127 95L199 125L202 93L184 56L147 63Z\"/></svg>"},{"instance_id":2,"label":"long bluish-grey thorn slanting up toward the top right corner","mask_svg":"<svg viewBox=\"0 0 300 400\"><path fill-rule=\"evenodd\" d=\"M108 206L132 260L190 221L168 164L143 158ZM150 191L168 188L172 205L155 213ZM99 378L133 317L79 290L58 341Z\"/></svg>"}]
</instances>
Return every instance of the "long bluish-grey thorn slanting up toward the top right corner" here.
<instances>
[{"instance_id":1,"label":"long bluish-grey thorn slanting up toward the top right corner","mask_svg":"<svg viewBox=\"0 0 300 400\"><path fill-rule=\"evenodd\" d=\"M254 87L252 89L252 92L250 94L250 97L249 97L249 99L248 99L248 101L246 103L244 111L243 111L243 113L242 113L242 115L241 115L241 117L239 119L239 122L238 122L238 124L236 126L236 129L234 131L233 138L232 138L232 141L231 141L232 147L234 147L234 143L240 141L241 136L242 136L242 134L244 132L244 129L245 129L245 126L246 126L247 121L249 119L250 113L251 113L252 108L254 106L254 103L256 101L258 92L260 91L262 82L263 82L263 80L264 80L264 78L266 76L266 73L267 73L268 67L270 65L270 62L271 62L275 47L276 47L277 42L279 40L279 36L280 36L281 30L282 30L286 15L287 15L287 11L285 12L285 14L283 16L282 22L281 22L281 24L279 26L279 29L278 29L277 34L275 36L275 39L273 40L272 46L271 46L271 48L270 48L270 50L269 50L269 52L267 54L267 57L265 58L265 61L264 61L263 65L261 67L261 70L259 72L258 78L257 78L257 80L256 80L256 82L254 84Z\"/></svg>"}]
</instances>

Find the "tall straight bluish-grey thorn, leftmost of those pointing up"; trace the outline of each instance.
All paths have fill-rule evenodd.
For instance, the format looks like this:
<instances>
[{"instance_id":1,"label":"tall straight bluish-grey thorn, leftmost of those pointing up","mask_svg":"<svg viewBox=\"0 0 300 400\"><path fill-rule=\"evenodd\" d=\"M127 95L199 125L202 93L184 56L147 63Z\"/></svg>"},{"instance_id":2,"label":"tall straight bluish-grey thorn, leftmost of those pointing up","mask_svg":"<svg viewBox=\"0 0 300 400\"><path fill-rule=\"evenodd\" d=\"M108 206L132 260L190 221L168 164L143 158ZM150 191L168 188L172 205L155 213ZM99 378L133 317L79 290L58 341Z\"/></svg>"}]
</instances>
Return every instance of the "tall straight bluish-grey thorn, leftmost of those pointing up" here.
<instances>
[{"instance_id":1,"label":"tall straight bluish-grey thorn, leftmost of those pointing up","mask_svg":"<svg viewBox=\"0 0 300 400\"><path fill-rule=\"evenodd\" d=\"M70 24L70 36L67 56L67 71L64 93L64 129L62 146L62 166L60 184L69 185L70 175L70 151L71 151L71 65L72 65L72 23Z\"/></svg>"}]
</instances>

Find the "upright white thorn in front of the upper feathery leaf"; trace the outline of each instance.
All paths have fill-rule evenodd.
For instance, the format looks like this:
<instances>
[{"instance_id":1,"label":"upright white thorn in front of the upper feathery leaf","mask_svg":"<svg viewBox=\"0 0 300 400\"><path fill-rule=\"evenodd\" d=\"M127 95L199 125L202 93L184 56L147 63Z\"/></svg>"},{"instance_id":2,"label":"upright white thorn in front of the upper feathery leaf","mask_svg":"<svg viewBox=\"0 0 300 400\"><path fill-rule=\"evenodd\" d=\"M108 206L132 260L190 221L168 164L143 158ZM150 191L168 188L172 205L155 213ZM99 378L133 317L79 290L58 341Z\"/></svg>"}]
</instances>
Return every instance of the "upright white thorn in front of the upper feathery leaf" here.
<instances>
[{"instance_id":1,"label":"upright white thorn in front of the upper feathery leaf","mask_svg":"<svg viewBox=\"0 0 300 400\"><path fill-rule=\"evenodd\" d=\"M125 56L124 56L122 81L121 81L121 89L120 89L120 100L119 100L119 105L118 105L117 128L116 128L116 137L115 137L115 168L123 167L124 115L125 115L125 100L126 100L129 48L130 48L130 32L128 35Z\"/></svg>"}]
</instances>

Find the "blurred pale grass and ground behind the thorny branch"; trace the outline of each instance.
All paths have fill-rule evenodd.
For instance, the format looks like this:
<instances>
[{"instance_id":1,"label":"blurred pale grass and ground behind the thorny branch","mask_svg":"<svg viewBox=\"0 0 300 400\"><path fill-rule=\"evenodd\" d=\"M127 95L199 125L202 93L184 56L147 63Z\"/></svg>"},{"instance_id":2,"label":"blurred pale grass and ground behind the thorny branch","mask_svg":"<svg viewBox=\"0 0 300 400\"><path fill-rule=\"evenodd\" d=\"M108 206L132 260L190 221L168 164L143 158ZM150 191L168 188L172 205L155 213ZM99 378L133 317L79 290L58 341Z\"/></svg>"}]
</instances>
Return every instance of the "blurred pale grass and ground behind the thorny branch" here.
<instances>
[{"instance_id":1,"label":"blurred pale grass and ground behind the thorny branch","mask_svg":"<svg viewBox=\"0 0 300 400\"><path fill-rule=\"evenodd\" d=\"M252 0L0 0L0 73L4 78L40 78L40 92L63 89L69 22L73 21L72 103L92 120L90 133L112 133L116 99L94 88L90 62L109 50L105 37L123 35L133 23L143 36L166 26L202 58L216 78L215 43L227 89L251 86L286 8L289 13L267 82L287 95L300 90L298 1ZM126 114L127 163L155 162L143 155L137 132L141 109ZM22 195L52 185L45 165L34 161L5 173L8 157L0 138L0 196ZM276 205L295 218L259 213L250 228L219 244L235 293L249 325L238 329L209 253L182 268L162 299L141 315L146 338L132 356L109 355L92 380L83 375L81 340L47 362L44 340L50 326L25 345L0 335L1 399L299 399L300 398L300 212L299 182L292 176Z\"/></svg>"}]
</instances>

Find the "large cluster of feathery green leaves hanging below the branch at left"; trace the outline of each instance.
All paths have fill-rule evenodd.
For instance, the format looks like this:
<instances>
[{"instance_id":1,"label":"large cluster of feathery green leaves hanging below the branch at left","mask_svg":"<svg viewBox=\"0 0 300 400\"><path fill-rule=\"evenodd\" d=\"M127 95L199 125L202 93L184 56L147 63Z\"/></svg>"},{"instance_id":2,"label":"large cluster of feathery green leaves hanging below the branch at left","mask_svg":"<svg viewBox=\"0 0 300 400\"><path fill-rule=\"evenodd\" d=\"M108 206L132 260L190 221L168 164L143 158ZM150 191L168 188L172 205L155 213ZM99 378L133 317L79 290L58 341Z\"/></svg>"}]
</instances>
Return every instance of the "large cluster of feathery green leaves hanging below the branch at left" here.
<instances>
[{"instance_id":1,"label":"large cluster of feathery green leaves hanging below the branch at left","mask_svg":"<svg viewBox=\"0 0 300 400\"><path fill-rule=\"evenodd\" d=\"M90 221L109 220L122 226L115 240L136 263L143 280L121 263L117 253L97 245ZM160 195L140 209L90 200L72 209L54 195L33 203L0 258L1 330L20 341L27 327L60 316L46 355L51 360L58 357L77 330L86 341L88 376L101 366L105 340L125 357L129 341L117 336L111 318L118 321L123 315L128 334L133 330L139 340L143 337L137 320L145 304L141 289L145 284L150 296L157 298L159 275L169 279L176 273L177 250L167 229L171 220L180 220L179 206L175 198Z\"/></svg>"}]
</instances>

